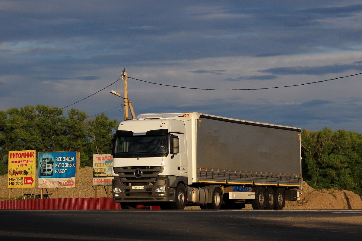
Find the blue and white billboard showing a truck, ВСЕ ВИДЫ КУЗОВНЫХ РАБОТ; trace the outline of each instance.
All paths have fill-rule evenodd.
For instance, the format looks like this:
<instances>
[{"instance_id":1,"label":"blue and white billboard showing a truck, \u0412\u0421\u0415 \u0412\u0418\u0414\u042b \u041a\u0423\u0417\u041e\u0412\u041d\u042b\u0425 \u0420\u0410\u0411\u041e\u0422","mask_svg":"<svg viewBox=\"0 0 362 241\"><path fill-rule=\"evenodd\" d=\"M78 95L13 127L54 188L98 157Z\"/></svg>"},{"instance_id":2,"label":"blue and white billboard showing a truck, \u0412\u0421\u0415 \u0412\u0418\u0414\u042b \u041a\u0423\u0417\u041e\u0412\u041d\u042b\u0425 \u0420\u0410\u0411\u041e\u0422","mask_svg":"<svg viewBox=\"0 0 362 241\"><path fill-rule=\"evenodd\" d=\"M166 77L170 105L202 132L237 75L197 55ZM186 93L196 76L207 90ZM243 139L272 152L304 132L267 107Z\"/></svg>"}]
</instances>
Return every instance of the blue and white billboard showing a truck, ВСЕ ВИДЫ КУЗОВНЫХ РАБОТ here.
<instances>
[{"instance_id":1,"label":"blue and white billboard showing a truck, \u0412\u0421\u0415 \u0412\u0418\u0414\u042b \u041a\u0423\u0417\u041e\u0412\u041d\u042b\u0425 \u0420\u0410\u0411\u041e\u0422","mask_svg":"<svg viewBox=\"0 0 362 241\"><path fill-rule=\"evenodd\" d=\"M74 188L79 151L39 152L38 188Z\"/></svg>"}]
</instances>

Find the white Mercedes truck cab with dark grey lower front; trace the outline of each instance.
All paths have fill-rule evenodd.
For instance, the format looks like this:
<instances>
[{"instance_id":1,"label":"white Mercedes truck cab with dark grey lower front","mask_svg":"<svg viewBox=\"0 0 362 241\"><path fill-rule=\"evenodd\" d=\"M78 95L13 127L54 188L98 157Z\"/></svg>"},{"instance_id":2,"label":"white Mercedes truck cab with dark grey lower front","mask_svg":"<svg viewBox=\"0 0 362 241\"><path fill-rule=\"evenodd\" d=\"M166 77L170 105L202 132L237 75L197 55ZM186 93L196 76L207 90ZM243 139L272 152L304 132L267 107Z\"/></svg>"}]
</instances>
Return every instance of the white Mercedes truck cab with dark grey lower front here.
<instances>
[{"instance_id":1,"label":"white Mercedes truck cab with dark grey lower front","mask_svg":"<svg viewBox=\"0 0 362 241\"><path fill-rule=\"evenodd\" d=\"M121 122L112 139L113 201L121 202L122 208L175 201L177 184L188 184L185 134L182 120L148 117ZM186 190L180 195L184 205Z\"/></svg>"}]
</instances>

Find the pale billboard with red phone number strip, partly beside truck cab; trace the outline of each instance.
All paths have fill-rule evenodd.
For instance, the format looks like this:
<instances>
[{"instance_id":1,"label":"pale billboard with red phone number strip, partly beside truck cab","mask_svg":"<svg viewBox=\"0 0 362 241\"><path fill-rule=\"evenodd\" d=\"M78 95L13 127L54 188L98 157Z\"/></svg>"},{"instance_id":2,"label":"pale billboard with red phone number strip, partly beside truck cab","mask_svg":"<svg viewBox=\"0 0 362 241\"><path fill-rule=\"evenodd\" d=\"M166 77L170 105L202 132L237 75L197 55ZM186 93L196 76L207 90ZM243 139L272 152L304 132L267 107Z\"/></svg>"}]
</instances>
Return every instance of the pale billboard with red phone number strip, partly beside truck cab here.
<instances>
[{"instance_id":1,"label":"pale billboard with red phone number strip, partly beside truck cab","mask_svg":"<svg viewBox=\"0 0 362 241\"><path fill-rule=\"evenodd\" d=\"M93 186L112 185L113 156L111 154L93 155Z\"/></svg>"}]
</instances>

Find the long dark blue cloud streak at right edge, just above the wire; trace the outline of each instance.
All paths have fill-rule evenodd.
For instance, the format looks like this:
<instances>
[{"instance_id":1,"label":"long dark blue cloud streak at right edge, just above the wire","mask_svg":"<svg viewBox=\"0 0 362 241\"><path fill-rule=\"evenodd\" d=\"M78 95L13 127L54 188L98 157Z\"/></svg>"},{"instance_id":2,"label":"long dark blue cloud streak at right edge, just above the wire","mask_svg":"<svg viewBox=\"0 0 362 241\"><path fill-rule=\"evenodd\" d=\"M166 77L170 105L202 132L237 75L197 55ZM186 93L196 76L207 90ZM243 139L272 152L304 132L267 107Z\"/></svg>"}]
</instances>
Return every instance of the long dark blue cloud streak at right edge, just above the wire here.
<instances>
[{"instance_id":1,"label":"long dark blue cloud streak at right edge, just above the wire","mask_svg":"<svg viewBox=\"0 0 362 241\"><path fill-rule=\"evenodd\" d=\"M271 73L279 75L295 75L295 74L309 74L321 75L330 73L342 73L347 70L362 70L362 61L357 61L352 64L332 64L320 66L291 66L291 67L276 67L264 70L258 70L261 73Z\"/></svg>"}]
</instances>

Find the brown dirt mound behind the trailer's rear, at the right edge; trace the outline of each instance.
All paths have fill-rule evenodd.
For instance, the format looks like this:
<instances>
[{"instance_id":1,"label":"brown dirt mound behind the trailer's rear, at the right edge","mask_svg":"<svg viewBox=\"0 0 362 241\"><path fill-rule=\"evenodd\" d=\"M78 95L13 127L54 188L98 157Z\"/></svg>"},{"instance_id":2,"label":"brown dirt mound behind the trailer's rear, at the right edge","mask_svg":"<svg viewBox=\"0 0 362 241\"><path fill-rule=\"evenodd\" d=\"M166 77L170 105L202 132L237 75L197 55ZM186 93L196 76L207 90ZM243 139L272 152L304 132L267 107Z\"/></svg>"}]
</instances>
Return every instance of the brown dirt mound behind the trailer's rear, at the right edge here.
<instances>
[{"instance_id":1,"label":"brown dirt mound behind the trailer's rear, at the right edge","mask_svg":"<svg viewBox=\"0 0 362 241\"><path fill-rule=\"evenodd\" d=\"M303 181L300 201L286 201L285 209L362 209L362 199L353 191L315 190Z\"/></svg>"}]
</instances>

